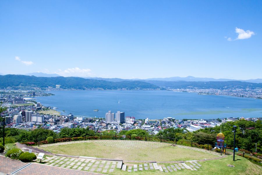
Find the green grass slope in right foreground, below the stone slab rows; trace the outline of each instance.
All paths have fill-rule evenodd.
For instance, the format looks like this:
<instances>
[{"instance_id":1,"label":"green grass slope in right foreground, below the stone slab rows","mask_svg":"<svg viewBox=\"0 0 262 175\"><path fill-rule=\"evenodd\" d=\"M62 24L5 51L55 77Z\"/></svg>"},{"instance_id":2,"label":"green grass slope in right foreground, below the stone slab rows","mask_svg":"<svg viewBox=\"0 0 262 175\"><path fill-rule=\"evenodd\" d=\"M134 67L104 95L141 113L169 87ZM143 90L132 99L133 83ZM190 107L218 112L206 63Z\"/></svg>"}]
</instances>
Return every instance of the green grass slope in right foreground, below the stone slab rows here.
<instances>
[{"instance_id":1,"label":"green grass slope in right foreground, below the stone slab rows","mask_svg":"<svg viewBox=\"0 0 262 175\"><path fill-rule=\"evenodd\" d=\"M220 175L220 174L226 174L226 175L261 175L262 174L262 167L259 167L256 164L253 164L249 160L236 156L235 157L237 161L233 161L233 156L229 156L226 158L218 159L218 160L208 160L204 162L199 162L202 166L198 171L191 171L188 169L182 169L178 170L176 172L160 172L159 170L151 170L151 171L138 171L138 172L127 172L127 171L121 171L120 169L116 169L112 173L112 175L128 175L128 174L135 174L135 175L159 175L159 174L178 174L178 175L202 175L202 174L208 174L208 175ZM234 165L235 167L228 167L228 164ZM170 165L170 164L161 164L158 163L158 165Z\"/></svg>"}]
</instances>

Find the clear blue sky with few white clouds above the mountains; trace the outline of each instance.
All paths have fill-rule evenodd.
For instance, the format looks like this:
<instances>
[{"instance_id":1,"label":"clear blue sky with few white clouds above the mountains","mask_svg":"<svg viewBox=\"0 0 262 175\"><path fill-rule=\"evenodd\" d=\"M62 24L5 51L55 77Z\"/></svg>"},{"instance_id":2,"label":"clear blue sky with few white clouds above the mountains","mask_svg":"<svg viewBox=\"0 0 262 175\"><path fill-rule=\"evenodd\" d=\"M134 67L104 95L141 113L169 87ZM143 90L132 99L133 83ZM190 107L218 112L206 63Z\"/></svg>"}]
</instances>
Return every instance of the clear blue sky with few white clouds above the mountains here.
<instances>
[{"instance_id":1,"label":"clear blue sky with few white clouds above the mountains","mask_svg":"<svg viewBox=\"0 0 262 175\"><path fill-rule=\"evenodd\" d=\"M0 73L262 78L261 34L262 1L2 0Z\"/></svg>"}]
</instances>

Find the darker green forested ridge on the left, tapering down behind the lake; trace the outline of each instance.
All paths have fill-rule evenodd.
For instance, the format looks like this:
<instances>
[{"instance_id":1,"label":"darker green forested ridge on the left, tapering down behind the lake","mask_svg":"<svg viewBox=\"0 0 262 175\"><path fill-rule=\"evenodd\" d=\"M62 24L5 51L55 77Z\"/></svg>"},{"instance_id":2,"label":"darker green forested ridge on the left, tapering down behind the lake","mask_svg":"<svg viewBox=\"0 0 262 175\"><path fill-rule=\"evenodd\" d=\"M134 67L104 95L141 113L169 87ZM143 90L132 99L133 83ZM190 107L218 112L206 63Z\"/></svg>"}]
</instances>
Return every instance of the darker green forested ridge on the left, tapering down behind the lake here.
<instances>
[{"instance_id":1,"label":"darker green forested ridge on the left, tapering down behind the lake","mask_svg":"<svg viewBox=\"0 0 262 175\"><path fill-rule=\"evenodd\" d=\"M60 85L63 89L157 89L159 86L142 81L110 82L104 80L92 80L79 77L36 77L26 75L0 76L0 88L36 86L39 88Z\"/></svg>"}]
</instances>

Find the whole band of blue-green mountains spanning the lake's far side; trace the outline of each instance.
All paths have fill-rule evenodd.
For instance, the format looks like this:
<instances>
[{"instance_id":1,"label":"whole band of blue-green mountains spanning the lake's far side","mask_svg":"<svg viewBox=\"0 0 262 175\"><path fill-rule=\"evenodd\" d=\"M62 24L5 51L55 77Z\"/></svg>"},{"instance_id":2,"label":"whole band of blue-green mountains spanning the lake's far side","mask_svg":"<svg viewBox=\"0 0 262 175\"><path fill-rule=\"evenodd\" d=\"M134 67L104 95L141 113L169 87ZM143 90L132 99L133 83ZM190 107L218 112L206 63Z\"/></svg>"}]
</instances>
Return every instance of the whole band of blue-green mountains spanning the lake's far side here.
<instances>
[{"instance_id":1,"label":"whole band of blue-green mountains spanning the lake's far side","mask_svg":"<svg viewBox=\"0 0 262 175\"><path fill-rule=\"evenodd\" d=\"M262 88L262 83L242 81L157 81L157 80L123 80L108 78L96 80L80 77L36 77L25 75L0 75L0 88L48 87L63 89L157 89L157 88L184 88L184 89L229 89L229 88ZM110 81L109 81L110 80ZM121 81L123 80L123 81Z\"/></svg>"}]
</instances>

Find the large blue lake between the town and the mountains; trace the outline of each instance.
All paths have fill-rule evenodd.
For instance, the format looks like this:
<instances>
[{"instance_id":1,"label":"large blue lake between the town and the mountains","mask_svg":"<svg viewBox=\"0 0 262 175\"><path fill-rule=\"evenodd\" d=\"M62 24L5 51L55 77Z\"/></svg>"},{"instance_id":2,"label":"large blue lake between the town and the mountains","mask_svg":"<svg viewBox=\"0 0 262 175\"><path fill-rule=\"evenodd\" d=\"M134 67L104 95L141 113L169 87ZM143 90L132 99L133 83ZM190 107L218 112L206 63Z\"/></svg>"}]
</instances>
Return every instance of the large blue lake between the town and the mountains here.
<instances>
[{"instance_id":1,"label":"large blue lake between the town and the mountains","mask_svg":"<svg viewBox=\"0 0 262 175\"><path fill-rule=\"evenodd\" d=\"M62 114L105 117L109 110L123 111L136 119L211 119L262 117L262 99L198 95L157 90L48 91L55 95L37 97L44 106L57 107ZM98 112L93 111L98 109ZM63 110L65 112L63 112Z\"/></svg>"}]
</instances>

